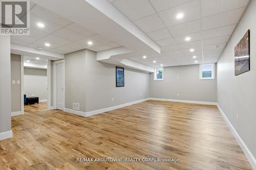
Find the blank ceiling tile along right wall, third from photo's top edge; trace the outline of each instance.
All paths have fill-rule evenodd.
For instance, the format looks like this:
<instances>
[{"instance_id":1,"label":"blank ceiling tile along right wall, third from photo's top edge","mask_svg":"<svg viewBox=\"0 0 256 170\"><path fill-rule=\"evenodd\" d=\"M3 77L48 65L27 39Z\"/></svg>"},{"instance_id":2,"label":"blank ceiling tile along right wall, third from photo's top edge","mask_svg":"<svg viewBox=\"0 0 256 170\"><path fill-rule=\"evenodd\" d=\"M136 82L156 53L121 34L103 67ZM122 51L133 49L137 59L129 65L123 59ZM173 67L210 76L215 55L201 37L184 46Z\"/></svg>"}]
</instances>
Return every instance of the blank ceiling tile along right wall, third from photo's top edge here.
<instances>
[{"instance_id":1,"label":"blank ceiling tile along right wall, third from photo's top edge","mask_svg":"<svg viewBox=\"0 0 256 170\"><path fill-rule=\"evenodd\" d=\"M234 28L236 27L236 24L225 26L217 29L211 29L207 31L203 31L203 39L209 39L209 38L216 38L221 37L225 35L231 35Z\"/></svg>"}]
</instances>

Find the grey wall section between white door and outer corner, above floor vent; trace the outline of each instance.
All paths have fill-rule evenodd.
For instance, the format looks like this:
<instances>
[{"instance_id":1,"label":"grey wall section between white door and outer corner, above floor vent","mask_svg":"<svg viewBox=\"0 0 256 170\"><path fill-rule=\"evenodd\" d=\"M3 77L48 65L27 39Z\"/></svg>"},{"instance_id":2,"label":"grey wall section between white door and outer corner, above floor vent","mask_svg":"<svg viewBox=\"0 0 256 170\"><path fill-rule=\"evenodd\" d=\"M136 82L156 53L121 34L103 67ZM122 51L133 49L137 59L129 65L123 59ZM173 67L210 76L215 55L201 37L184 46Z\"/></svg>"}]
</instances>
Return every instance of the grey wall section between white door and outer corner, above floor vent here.
<instances>
[{"instance_id":1,"label":"grey wall section between white door and outer corner, above floor vent","mask_svg":"<svg viewBox=\"0 0 256 170\"><path fill-rule=\"evenodd\" d=\"M86 50L65 55L65 108L80 103L80 111L86 111ZM89 81L89 80L88 80Z\"/></svg>"}]
</instances>

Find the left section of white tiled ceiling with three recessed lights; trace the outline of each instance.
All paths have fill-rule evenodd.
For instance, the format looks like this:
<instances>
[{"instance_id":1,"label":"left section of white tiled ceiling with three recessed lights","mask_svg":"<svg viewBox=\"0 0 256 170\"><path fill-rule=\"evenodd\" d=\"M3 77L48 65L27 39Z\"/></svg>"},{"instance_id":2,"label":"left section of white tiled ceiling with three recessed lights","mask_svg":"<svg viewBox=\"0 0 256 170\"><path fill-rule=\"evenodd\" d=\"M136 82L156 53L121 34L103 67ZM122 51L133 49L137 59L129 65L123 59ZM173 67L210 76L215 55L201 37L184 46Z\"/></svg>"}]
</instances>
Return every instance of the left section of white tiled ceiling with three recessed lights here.
<instances>
[{"instance_id":1,"label":"left section of white tiled ceiling with three recessed lights","mask_svg":"<svg viewBox=\"0 0 256 170\"><path fill-rule=\"evenodd\" d=\"M44 23L45 28L39 28L37 23ZM88 45L92 41L92 45ZM30 4L30 36L11 36L11 43L67 54L88 48L99 52L121 46L77 23L61 17L39 5ZM51 46L45 46L50 43Z\"/></svg>"}]
</instances>

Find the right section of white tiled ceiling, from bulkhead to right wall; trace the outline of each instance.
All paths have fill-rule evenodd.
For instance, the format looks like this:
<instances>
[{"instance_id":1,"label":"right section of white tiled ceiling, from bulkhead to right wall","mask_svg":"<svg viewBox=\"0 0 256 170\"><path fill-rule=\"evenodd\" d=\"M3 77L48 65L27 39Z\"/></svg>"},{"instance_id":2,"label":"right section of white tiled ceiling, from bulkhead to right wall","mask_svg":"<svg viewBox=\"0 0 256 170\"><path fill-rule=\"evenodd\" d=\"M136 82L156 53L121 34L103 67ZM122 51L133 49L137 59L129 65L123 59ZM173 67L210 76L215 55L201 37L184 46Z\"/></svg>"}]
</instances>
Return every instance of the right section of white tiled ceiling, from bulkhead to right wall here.
<instances>
[{"instance_id":1,"label":"right section of white tiled ceiling, from bulkhead to right wall","mask_svg":"<svg viewBox=\"0 0 256 170\"><path fill-rule=\"evenodd\" d=\"M132 60L159 67L217 62L249 0L109 2L161 46L160 55L147 55L146 59L135 56ZM178 13L184 17L177 19ZM186 37L191 40L186 42ZM195 51L190 52L190 48Z\"/></svg>"}]
</instances>

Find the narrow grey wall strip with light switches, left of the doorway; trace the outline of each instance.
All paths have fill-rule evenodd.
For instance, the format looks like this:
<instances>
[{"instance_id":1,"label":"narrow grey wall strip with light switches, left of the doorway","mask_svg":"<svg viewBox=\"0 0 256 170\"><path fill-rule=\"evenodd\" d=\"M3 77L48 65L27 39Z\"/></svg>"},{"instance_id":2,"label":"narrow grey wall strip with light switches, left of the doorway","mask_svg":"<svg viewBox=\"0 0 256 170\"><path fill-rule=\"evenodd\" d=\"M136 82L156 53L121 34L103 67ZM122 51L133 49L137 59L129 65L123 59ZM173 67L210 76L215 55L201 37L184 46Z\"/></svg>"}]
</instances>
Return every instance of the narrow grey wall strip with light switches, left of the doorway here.
<instances>
[{"instance_id":1,"label":"narrow grey wall strip with light switches, left of the doorway","mask_svg":"<svg viewBox=\"0 0 256 170\"><path fill-rule=\"evenodd\" d=\"M12 112L21 111L21 62L20 55L11 54L11 82L15 81L15 84L11 84L11 106ZM20 83L17 84L17 81Z\"/></svg>"}]
</instances>

